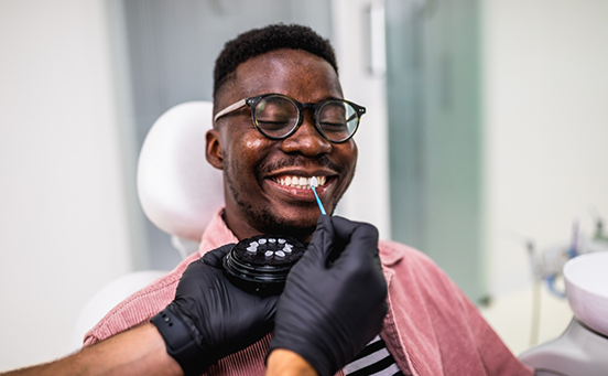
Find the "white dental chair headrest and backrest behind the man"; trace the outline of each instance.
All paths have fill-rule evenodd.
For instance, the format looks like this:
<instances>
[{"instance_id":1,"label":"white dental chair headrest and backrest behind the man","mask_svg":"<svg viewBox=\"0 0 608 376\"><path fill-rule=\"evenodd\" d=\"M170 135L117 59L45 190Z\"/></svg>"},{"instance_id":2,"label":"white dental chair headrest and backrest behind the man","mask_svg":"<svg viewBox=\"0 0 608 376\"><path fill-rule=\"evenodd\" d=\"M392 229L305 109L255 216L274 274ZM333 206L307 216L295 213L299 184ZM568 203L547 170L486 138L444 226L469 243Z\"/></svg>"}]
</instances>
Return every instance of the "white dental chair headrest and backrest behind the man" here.
<instances>
[{"instance_id":1,"label":"white dental chair headrest and backrest behind the man","mask_svg":"<svg viewBox=\"0 0 608 376\"><path fill-rule=\"evenodd\" d=\"M215 212L224 205L221 171L205 159L205 133L211 128L213 105L189 101L164 112L152 126L138 161L138 196L148 218L170 234L182 258L198 241ZM113 307L166 271L144 270L123 276L87 303L72 335L68 352Z\"/></svg>"}]
</instances>

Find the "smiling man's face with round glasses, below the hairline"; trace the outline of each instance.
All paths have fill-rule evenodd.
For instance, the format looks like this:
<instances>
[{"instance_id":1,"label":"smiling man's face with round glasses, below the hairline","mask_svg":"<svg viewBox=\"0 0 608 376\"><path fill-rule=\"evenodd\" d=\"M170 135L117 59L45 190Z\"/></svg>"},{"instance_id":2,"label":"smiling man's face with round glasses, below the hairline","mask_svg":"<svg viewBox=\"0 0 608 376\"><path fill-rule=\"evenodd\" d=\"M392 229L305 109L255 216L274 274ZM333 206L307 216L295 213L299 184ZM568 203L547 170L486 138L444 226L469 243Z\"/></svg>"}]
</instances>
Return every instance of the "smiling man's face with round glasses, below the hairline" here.
<instances>
[{"instance_id":1,"label":"smiling man's face with round glasses, below the hairline","mask_svg":"<svg viewBox=\"0 0 608 376\"><path fill-rule=\"evenodd\" d=\"M231 47L238 44L228 44L218 64L235 53ZM224 170L224 221L238 238L285 234L310 240L319 214L310 179L317 178L317 193L332 213L355 174L351 136L361 107L343 100L330 63L302 50L270 51L226 76L216 71L216 79L222 85L207 160ZM350 127L328 123L345 116L354 118Z\"/></svg>"}]
</instances>

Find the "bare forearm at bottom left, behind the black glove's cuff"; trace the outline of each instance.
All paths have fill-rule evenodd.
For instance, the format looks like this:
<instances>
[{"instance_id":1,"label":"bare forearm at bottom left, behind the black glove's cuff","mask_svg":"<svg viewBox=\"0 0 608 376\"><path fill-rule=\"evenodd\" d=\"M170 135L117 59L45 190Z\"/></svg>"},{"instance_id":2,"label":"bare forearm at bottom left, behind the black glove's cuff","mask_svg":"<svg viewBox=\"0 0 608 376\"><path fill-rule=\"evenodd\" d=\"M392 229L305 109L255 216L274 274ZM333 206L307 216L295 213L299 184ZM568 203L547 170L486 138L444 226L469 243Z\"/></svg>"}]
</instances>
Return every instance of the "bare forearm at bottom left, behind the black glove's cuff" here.
<instances>
[{"instance_id":1,"label":"bare forearm at bottom left, behind the black glove's cuff","mask_svg":"<svg viewBox=\"0 0 608 376\"><path fill-rule=\"evenodd\" d=\"M183 375L167 353L163 337L152 324L115 335L91 347L40 366L3 374L4 376L70 375Z\"/></svg>"}]
</instances>

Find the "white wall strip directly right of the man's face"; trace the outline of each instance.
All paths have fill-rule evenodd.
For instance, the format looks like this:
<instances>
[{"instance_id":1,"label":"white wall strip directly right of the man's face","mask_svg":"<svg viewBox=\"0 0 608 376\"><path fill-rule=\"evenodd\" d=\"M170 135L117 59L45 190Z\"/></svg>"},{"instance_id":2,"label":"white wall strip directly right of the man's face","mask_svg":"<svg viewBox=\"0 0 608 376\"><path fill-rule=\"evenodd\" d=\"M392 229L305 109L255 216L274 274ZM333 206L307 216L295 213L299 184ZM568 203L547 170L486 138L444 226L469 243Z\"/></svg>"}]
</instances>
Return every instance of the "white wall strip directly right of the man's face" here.
<instances>
[{"instance_id":1,"label":"white wall strip directly right of the man's face","mask_svg":"<svg viewBox=\"0 0 608 376\"><path fill-rule=\"evenodd\" d=\"M366 8L382 0L333 0L332 28L345 98L365 106L366 115L354 136L359 148L357 172L337 214L378 227L391 238L389 150L386 77L366 67Z\"/></svg>"}]
</instances>

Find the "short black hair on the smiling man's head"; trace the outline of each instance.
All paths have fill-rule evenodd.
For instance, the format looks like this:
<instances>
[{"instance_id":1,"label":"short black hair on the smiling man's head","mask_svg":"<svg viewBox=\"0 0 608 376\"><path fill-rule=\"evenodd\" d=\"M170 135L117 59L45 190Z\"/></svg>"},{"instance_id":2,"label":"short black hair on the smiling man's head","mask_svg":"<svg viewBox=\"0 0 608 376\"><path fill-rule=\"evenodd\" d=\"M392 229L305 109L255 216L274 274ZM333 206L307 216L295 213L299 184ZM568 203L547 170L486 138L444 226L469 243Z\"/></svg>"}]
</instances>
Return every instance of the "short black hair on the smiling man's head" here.
<instances>
[{"instance_id":1,"label":"short black hair on the smiling man's head","mask_svg":"<svg viewBox=\"0 0 608 376\"><path fill-rule=\"evenodd\" d=\"M298 24L271 24L252 29L227 42L214 69L214 101L219 88L236 77L237 67L246 61L281 49L304 50L324 58L338 73L336 54L328 40L313 29Z\"/></svg>"}]
</instances>

